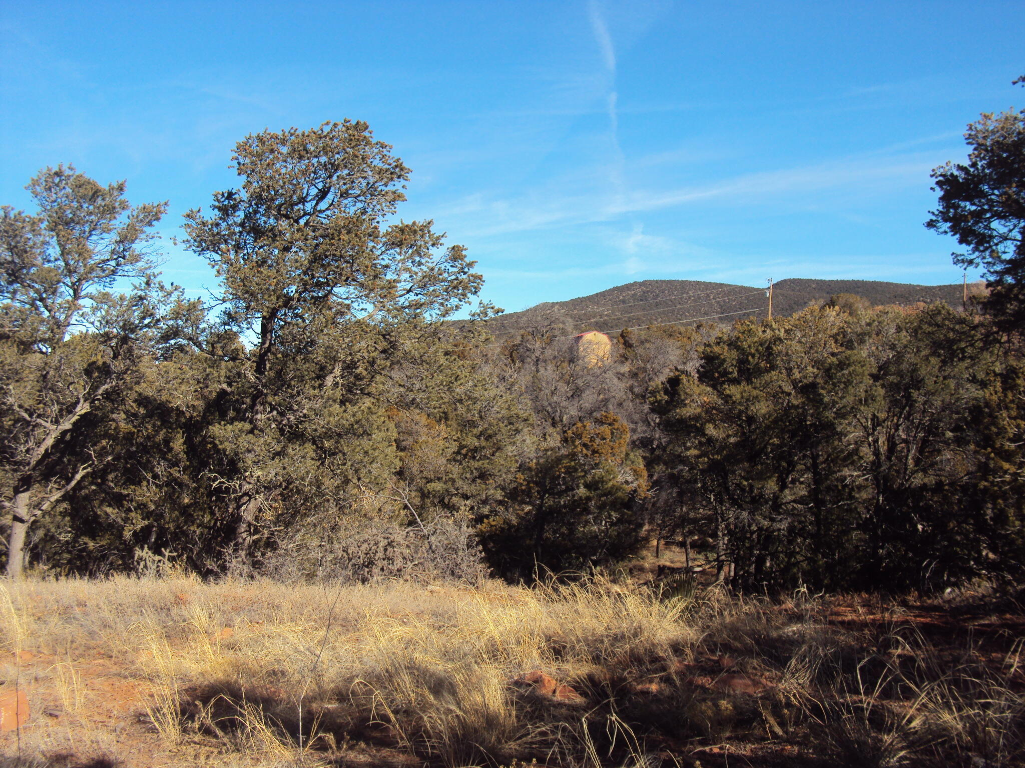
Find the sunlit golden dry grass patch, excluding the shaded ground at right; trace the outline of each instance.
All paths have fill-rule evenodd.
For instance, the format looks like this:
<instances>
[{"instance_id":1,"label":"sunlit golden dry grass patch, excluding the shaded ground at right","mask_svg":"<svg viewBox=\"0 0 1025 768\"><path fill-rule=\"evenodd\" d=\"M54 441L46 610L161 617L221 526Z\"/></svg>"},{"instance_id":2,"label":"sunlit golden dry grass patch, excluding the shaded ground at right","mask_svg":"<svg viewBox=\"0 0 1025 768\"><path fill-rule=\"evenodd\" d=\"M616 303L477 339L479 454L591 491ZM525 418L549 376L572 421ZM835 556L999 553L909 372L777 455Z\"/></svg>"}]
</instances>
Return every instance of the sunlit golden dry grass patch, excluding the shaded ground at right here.
<instances>
[{"instance_id":1,"label":"sunlit golden dry grass patch, excluding the shaded ground at right","mask_svg":"<svg viewBox=\"0 0 1025 768\"><path fill-rule=\"evenodd\" d=\"M573 680L694 639L679 602L611 585L119 578L26 581L3 586L2 596L5 649L52 660L34 684L59 700L61 714L52 728L35 717L23 734L41 749L54 748L46 730L67 730L83 709L82 669L102 663L131 683L130 708L146 713L168 748L212 740L260 760L313 759L339 749L344 721L457 764L531 738L508 695L517 675L543 669Z\"/></svg>"}]
</instances>

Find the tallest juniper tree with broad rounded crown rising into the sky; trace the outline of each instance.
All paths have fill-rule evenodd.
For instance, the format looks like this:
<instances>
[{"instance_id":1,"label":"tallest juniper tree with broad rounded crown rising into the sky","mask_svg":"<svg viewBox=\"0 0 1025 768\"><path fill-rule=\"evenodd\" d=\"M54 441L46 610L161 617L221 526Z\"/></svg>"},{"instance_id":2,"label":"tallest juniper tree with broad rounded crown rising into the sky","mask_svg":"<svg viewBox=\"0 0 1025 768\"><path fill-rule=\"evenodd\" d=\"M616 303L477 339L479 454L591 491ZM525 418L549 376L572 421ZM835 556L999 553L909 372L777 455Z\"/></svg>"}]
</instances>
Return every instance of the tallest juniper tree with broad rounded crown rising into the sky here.
<instances>
[{"instance_id":1,"label":"tallest juniper tree with broad rounded crown rising into the sky","mask_svg":"<svg viewBox=\"0 0 1025 768\"><path fill-rule=\"evenodd\" d=\"M222 286L219 325L200 343L236 370L217 434L244 555L261 511L283 498L303 425L320 412L352 416L346 394L370 392L410 338L480 288L463 248L444 248L433 222L392 221L409 169L391 150L348 120L256 133L235 147L241 187L186 215L186 244Z\"/></svg>"}]
</instances>

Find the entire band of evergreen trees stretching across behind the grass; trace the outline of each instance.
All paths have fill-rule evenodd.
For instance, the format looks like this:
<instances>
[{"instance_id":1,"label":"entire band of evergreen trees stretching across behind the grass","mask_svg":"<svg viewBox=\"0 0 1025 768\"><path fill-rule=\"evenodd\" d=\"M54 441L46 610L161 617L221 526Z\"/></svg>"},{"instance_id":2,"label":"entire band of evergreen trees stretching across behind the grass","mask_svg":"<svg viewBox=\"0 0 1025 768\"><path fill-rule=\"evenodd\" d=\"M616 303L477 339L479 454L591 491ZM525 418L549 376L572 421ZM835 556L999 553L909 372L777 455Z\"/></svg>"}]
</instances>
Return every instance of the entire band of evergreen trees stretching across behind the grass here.
<instances>
[{"instance_id":1,"label":"entire band of evergreen trees stretching across behind the grass","mask_svg":"<svg viewBox=\"0 0 1025 768\"><path fill-rule=\"evenodd\" d=\"M558 323L497 343L492 307L451 318L481 276L395 223L409 171L365 124L249 136L235 162L240 188L186 216L209 305L159 281L166 204L123 182L48 168L37 213L3 208L9 575L529 579L666 539L743 590L1022 575L1006 316L842 295L623 332L602 359Z\"/></svg>"}]
</instances>

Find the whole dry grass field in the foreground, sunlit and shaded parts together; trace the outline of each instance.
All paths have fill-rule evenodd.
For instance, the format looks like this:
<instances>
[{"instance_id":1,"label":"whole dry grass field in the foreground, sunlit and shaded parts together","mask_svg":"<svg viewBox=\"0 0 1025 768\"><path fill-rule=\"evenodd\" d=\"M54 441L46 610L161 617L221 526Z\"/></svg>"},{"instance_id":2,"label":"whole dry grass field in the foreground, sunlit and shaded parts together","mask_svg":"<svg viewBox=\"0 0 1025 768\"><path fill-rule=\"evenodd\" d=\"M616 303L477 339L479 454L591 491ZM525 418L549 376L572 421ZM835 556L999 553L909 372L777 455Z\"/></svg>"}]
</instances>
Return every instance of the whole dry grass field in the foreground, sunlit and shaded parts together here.
<instances>
[{"instance_id":1,"label":"whole dry grass field in the foreground, sunlit and shaded parts together","mask_svg":"<svg viewBox=\"0 0 1025 768\"><path fill-rule=\"evenodd\" d=\"M906 633L836 630L824 609L601 580L4 583L0 687L28 690L33 713L3 734L4 754L19 740L25 765L54 766L709 766L732 751L749 765L977 768L1022 756L1016 653L952 664ZM538 670L579 695L516 683Z\"/></svg>"}]
</instances>

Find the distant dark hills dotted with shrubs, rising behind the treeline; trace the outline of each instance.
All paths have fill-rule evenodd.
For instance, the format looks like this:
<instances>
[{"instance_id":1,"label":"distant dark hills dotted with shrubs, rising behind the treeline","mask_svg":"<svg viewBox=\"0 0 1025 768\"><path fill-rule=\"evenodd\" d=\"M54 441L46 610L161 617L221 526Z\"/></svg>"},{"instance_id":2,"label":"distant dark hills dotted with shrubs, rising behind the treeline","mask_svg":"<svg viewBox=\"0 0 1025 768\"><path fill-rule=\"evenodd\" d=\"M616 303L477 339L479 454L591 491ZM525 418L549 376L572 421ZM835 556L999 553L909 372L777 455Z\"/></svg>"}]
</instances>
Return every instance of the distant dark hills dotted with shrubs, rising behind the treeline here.
<instances>
[{"instance_id":1,"label":"distant dark hills dotted with shrubs, rising behind the treeline","mask_svg":"<svg viewBox=\"0 0 1025 768\"><path fill-rule=\"evenodd\" d=\"M970 286L980 290L981 284ZM961 286L917 286L867 280L783 280L773 289L773 313L793 314L815 301L839 293L855 294L874 305L943 301L960 306ZM706 319L730 323L765 316L765 287L694 280L645 280L590 296L544 302L489 321L496 334L557 324L574 331L618 331L662 323Z\"/></svg>"}]
</instances>

